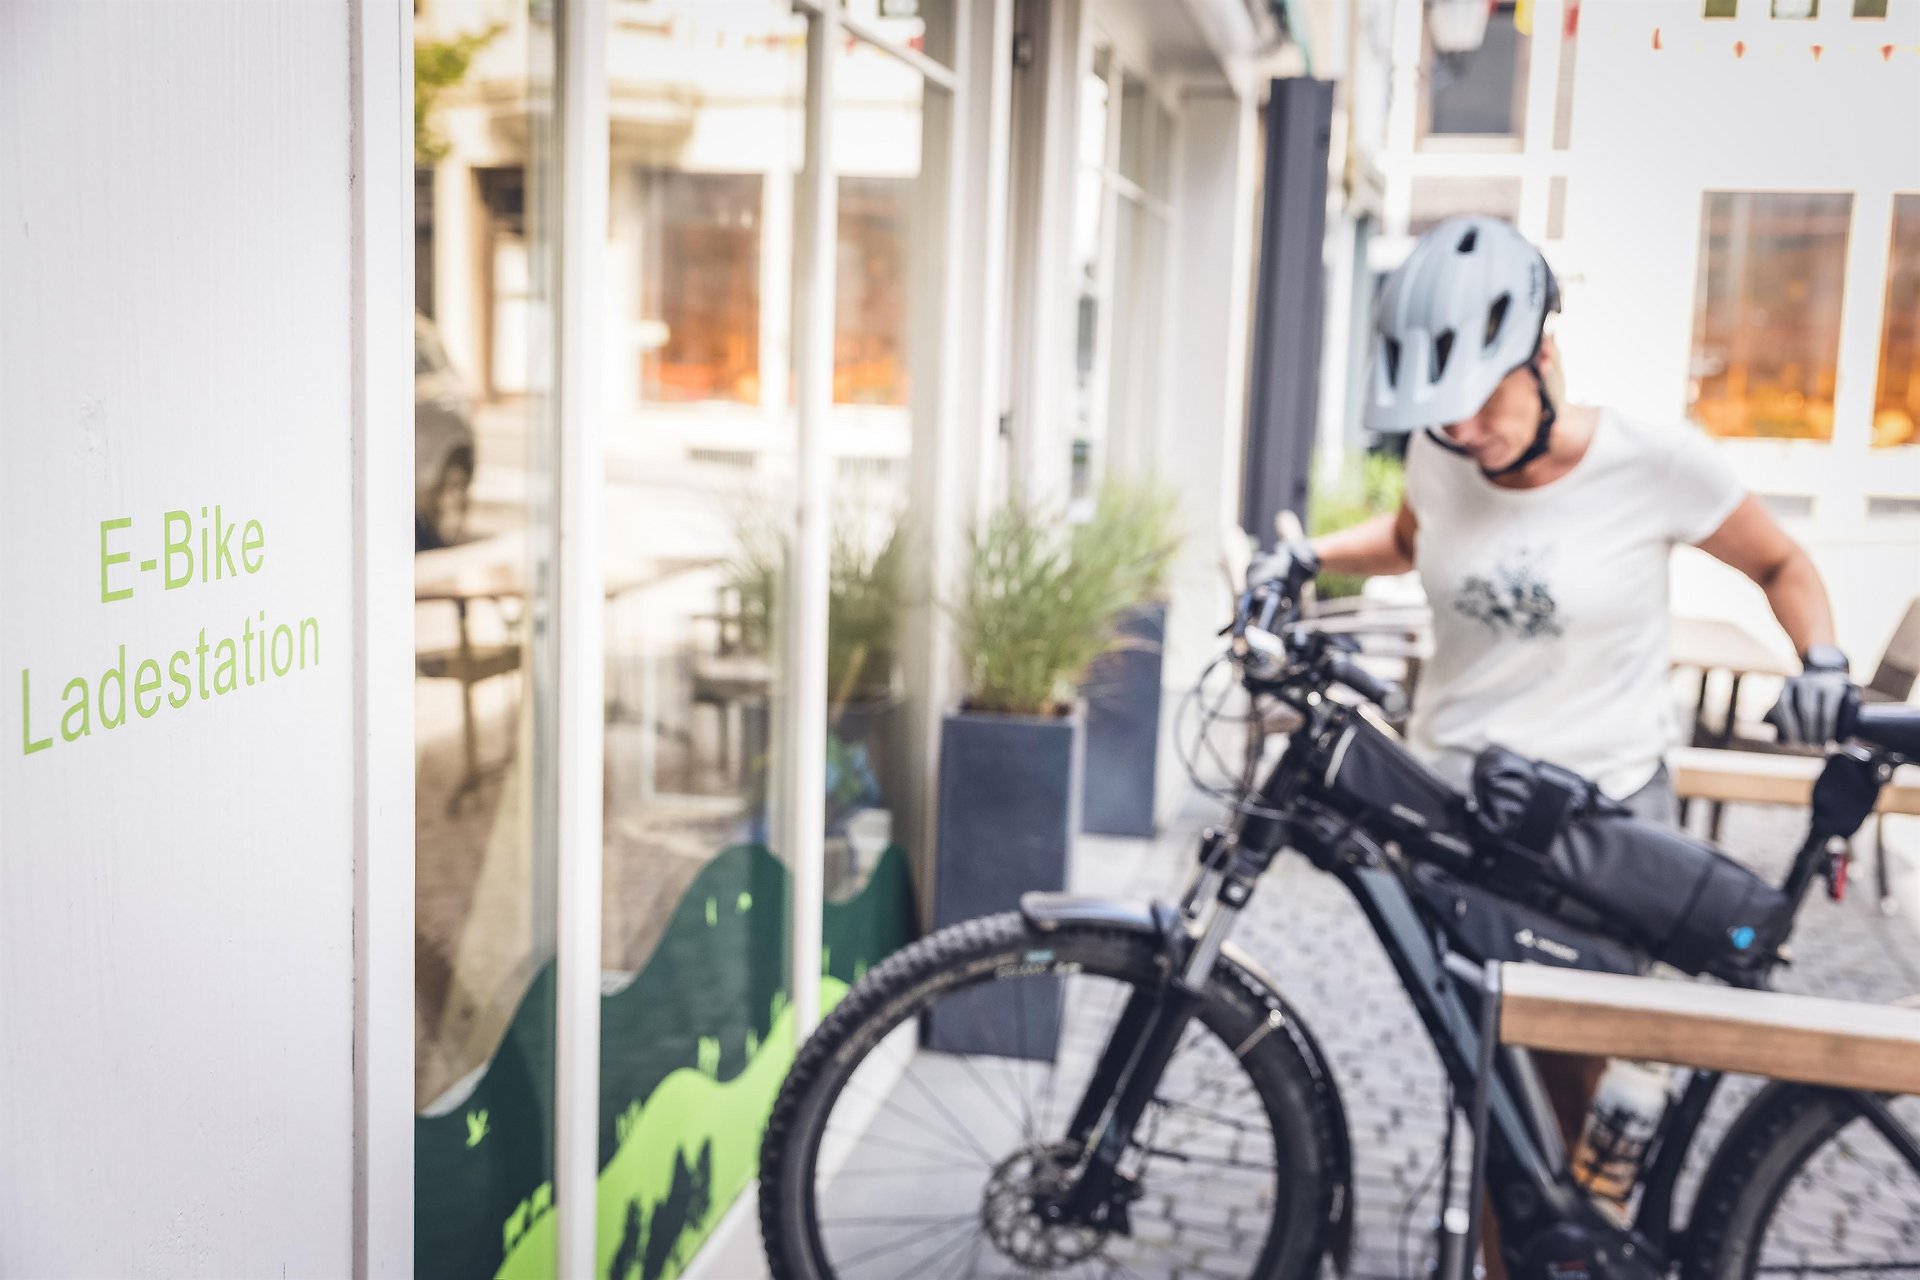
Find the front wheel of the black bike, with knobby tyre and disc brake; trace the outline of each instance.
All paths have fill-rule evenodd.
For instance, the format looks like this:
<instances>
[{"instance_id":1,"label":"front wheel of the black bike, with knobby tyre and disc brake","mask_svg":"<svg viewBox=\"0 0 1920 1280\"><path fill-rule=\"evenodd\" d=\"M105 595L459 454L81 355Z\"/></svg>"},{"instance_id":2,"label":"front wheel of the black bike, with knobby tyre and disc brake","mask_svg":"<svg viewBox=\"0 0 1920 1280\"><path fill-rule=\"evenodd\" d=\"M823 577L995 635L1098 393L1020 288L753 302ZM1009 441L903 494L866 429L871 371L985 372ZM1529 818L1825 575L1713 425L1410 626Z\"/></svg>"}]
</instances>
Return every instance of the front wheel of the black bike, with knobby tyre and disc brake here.
<instances>
[{"instance_id":1,"label":"front wheel of the black bike, with knobby tyre and disc brake","mask_svg":"<svg viewBox=\"0 0 1920 1280\"><path fill-rule=\"evenodd\" d=\"M1284 1015L1213 981L1121 1157L1098 1228L1039 1201L1081 1161L1073 1113L1158 940L954 925L856 984L801 1050L760 1153L776 1280L1306 1280L1336 1178L1329 1103Z\"/></svg>"}]
</instances>

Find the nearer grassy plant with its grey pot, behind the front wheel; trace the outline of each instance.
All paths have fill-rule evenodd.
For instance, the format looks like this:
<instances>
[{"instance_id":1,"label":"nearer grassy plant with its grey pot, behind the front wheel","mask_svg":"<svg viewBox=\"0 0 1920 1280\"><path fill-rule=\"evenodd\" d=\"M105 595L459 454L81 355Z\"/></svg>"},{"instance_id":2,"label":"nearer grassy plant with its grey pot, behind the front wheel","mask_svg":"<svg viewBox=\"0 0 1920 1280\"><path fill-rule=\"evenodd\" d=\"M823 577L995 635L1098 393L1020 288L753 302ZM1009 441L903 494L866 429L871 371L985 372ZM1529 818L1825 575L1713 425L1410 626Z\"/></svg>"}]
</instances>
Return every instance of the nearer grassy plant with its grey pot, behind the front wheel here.
<instances>
[{"instance_id":1,"label":"nearer grassy plant with its grey pot, behind the front wheel","mask_svg":"<svg viewBox=\"0 0 1920 1280\"><path fill-rule=\"evenodd\" d=\"M950 612L966 699L941 723L933 927L1014 908L1029 890L1064 889L1079 831L1083 714L1077 685L1114 637L1125 576L1064 518L1008 503L975 528ZM927 1044L945 1052L1052 1057L1052 1007L985 1007L941 1017ZM1025 1019L1023 1027L1020 1019Z\"/></svg>"}]
</instances>

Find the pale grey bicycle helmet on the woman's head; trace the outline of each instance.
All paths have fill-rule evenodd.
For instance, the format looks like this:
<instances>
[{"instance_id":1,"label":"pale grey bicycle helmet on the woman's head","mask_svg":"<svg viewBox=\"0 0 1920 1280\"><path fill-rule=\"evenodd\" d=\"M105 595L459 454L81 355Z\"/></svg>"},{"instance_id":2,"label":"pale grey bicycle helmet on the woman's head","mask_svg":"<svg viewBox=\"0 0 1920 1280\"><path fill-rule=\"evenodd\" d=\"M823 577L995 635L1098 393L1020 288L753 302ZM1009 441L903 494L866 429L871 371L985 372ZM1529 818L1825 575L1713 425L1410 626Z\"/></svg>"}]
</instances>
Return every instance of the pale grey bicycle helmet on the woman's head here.
<instances>
[{"instance_id":1,"label":"pale grey bicycle helmet on the woman's head","mask_svg":"<svg viewBox=\"0 0 1920 1280\"><path fill-rule=\"evenodd\" d=\"M1496 217L1440 223L1380 288L1367 386L1367 428L1428 430L1471 418L1515 368L1540 376L1540 338L1559 311L1559 286L1546 257ZM1542 391L1542 428L1513 466L1546 453L1553 407Z\"/></svg>"}]
</instances>

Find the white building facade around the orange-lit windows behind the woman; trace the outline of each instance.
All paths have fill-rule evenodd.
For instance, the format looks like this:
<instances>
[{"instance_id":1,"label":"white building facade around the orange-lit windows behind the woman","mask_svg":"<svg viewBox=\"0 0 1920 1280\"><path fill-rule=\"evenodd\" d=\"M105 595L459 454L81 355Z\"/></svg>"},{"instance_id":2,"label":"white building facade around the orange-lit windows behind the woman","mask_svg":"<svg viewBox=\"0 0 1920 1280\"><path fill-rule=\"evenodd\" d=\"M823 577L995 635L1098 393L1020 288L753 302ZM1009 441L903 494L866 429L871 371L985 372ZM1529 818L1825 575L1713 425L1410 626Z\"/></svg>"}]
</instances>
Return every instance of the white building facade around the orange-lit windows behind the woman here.
<instances>
[{"instance_id":1,"label":"white building facade around the orange-lit windows behind the woman","mask_svg":"<svg viewBox=\"0 0 1920 1280\"><path fill-rule=\"evenodd\" d=\"M1816 21L1768 12L1761 0L1732 21L1703 19L1695 0L1582 8L1563 263L1576 286L1559 334L1576 399L1678 420L1703 194L1853 194L1834 439L1720 449L1751 489L1812 501L1788 528L1828 581L1841 647L1870 674L1920 593L1920 522L1866 516L1866 495L1920 493L1920 447L1866 447L1891 200L1920 192L1920 0L1891 0L1884 21L1855 19L1851 4L1822 4ZM1690 612L1778 635L1764 599L1724 566L1684 557L1674 585Z\"/></svg>"}]
</instances>

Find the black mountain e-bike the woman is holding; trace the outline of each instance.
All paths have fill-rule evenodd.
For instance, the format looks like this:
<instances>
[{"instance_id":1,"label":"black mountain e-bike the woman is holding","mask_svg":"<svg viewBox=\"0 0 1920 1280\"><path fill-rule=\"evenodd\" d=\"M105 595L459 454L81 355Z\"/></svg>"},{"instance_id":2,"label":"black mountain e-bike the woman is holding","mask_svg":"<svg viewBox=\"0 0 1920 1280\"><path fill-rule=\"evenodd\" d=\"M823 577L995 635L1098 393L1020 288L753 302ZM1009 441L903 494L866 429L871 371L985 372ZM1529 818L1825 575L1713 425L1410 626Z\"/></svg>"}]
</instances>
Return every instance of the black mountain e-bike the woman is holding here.
<instances>
[{"instance_id":1,"label":"black mountain e-bike the woman is holding","mask_svg":"<svg viewBox=\"0 0 1920 1280\"><path fill-rule=\"evenodd\" d=\"M1202 839L1185 896L1029 894L1020 912L943 929L856 983L803 1046L766 1130L760 1228L774 1276L1294 1280L1325 1261L1344 1272L1354 1178L1334 1073L1279 983L1229 940L1261 875L1292 850L1354 894L1457 1105L1475 1103L1475 1182L1440 1215L1430 1251L1442 1274L1471 1267L1482 1203L1471 1186L1484 1178L1507 1270L1526 1280L1920 1278L1916 1100L1766 1084L1682 1224L1674 1190L1720 1084L1688 1073L1630 1224L1596 1203L1532 1057L1490 1034L1482 961L1519 938L1542 960L1588 963L1584 952L1645 935L1544 889L1546 871L1475 829L1467 796L1450 793L1436 819L1434 779L1334 693L1398 699L1356 664L1350 637L1315 629L1271 591L1242 597L1233 631L1221 662L1235 683L1256 708L1290 708L1296 727L1263 775L1250 748L1233 823ZM1745 894L1728 912L1757 910L1759 894L1776 927L1726 929L1732 942L1716 942L1718 958L1693 954L1690 971L1764 986L1811 885L1843 875L1880 787L1920 756L1914 708L1855 706L1849 722L1786 883L1726 881ZM1726 898L1693 896L1716 892ZM1503 913L1523 902L1526 915ZM1450 1148L1452 1132L1450 1121Z\"/></svg>"}]
</instances>

